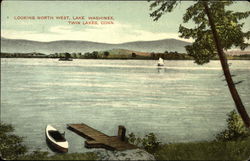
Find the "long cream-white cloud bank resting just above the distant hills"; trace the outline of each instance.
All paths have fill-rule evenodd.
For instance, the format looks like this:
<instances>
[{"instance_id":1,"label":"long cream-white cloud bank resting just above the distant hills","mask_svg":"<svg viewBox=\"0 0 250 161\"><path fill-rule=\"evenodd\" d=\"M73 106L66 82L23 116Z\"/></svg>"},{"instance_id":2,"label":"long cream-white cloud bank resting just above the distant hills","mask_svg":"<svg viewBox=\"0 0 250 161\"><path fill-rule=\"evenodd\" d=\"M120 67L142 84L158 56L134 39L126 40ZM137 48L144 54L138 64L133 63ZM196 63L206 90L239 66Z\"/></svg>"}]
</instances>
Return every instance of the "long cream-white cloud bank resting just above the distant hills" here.
<instances>
[{"instance_id":1,"label":"long cream-white cloud bank resting just above the distant hills","mask_svg":"<svg viewBox=\"0 0 250 161\"><path fill-rule=\"evenodd\" d=\"M166 38L192 41L179 38L178 33L151 32L138 29L137 26L123 23L91 26L57 25L50 27L48 32L2 30L2 36L12 39L28 39L45 42L55 40L85 40L105 43L123 43Z\"/></svg>"}]
</instances>

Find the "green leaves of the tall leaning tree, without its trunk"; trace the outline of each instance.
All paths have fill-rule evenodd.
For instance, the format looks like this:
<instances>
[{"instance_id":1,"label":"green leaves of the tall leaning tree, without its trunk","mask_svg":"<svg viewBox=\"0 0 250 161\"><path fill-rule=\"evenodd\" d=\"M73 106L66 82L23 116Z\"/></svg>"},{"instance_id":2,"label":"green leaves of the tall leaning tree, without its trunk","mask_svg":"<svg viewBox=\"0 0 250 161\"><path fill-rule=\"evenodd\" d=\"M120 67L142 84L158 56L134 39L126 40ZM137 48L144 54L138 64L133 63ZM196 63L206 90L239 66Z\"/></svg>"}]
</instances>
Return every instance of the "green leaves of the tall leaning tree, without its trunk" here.
<instances>
[{"instance_id":1,"label":"green leaves of the tall leaning tree, without its trunk","mask_svg":"<svg viewBox=\"0 0 250 161\"><path fill-rule=\"evenodd\" d=\"M194 39L193 44L186 46L187 53L195 59L197 64L208 63L216 54L213 35L203 3L207 3L210 8L222 48L227 50L235 46L244 50L249 45L245 43L245 40L249 40L250 31L242 31L244 23L240 20L247 18L250 12L226 10L225 7L231 5L232 1L204 2L200 0L191 5L183 16L184 23L192 20L195 27L187 28L183 25L179 27L180 37ZM150 7L151 9L158 8L150 16L157 21L164 13L171 12L176 5L178 5L178 1L155 1Z\"/></svg>"}]
</instances>

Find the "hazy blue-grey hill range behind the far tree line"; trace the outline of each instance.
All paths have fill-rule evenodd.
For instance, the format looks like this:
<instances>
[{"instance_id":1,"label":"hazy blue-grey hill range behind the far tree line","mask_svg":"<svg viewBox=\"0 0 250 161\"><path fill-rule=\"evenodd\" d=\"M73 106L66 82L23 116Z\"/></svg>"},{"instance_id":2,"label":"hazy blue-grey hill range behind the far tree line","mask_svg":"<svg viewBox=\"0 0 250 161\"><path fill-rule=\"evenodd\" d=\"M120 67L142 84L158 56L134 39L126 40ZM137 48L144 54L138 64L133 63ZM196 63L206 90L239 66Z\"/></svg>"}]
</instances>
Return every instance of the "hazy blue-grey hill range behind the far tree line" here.
<instances>
[{"instance_id":1,"label":"hazy blue-grey hill range behind the far tree line","mask_svg":"<svg viewBox=\"0 0 250 161\"><path fill-rule=\"evenodd\" d=\"M126 49L141 52L164 52L177 51L180 53L185 52L185 46L189 45L189 42L176 40L176 39L164 39L156 41L135 41L121 44L108 44L97 43L90 41L51 41L51 42L39 42L22 39L6 39L1 38L1 52L7 53L44 53L53 54L60 52L92 52L92 51L105 51L112 49Z\"/></svg>"}]
</instances>

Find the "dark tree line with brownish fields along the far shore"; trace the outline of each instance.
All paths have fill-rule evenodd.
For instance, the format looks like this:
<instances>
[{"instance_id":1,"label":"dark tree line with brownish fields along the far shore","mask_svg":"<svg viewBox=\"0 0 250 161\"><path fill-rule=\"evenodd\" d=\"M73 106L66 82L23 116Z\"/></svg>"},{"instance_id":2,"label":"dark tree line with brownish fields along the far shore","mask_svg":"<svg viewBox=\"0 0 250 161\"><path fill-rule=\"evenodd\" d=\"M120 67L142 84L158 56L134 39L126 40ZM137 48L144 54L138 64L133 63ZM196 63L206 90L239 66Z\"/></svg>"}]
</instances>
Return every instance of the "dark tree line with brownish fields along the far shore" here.
<instances>
[{"instance_id":1,"label":"dark tree line with brownish fields along the far shore","mask_svg":"<svg viewBox=\"0 0 250 161\"><path fill-rule=\"evenodd\" d=\"M112 54L111 54L112 53ZM53 54L43 54L43 53L1 53L1 58L73 58L73 59L159 59L163 58L165 60L193 60L194 58L186 53L179 53L177 51L165 51L163 53L151 52L148 54L140 55L136 52L110 52L110 51L93 51L93 52L64 52L64 53L53 53ZM213 60L218 60L218 56L215 55ZM238 55L238 56L228 56L228 59L250 59L250 55Z\"/></svg>"}]
</instances>

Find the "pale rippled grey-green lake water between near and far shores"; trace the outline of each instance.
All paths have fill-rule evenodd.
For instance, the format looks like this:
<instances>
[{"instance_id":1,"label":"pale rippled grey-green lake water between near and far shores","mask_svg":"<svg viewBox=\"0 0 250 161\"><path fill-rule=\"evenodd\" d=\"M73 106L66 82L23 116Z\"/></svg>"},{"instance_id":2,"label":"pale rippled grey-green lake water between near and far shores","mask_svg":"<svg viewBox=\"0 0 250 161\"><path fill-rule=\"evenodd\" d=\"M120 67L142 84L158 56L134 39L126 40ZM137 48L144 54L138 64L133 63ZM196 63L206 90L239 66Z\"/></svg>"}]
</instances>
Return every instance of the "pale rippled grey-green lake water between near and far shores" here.
<instances>
[{"instance_id":1,"label":"pale rippled grey-green lake water between near and far shores","mask_svg":"<svg viewBox=\"0 0 250 161\"><path fill-rule=\"evenodd\" d=\"M86 123L108 135L153 132L161 142L212 140L234 109L219 61L1 59L1 121L30 150L48 150L44 130L66 132L69 152L91 151L66 129ZM250 61L230 61L250 113Z\"/></svg>"}]
</instances>

